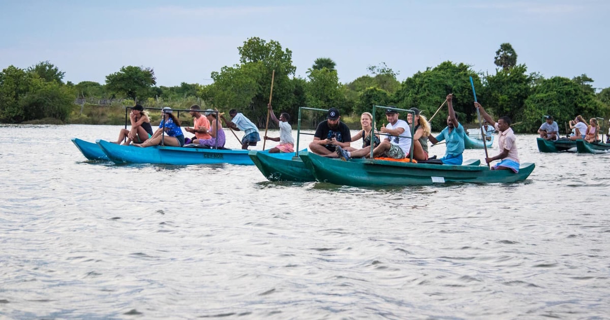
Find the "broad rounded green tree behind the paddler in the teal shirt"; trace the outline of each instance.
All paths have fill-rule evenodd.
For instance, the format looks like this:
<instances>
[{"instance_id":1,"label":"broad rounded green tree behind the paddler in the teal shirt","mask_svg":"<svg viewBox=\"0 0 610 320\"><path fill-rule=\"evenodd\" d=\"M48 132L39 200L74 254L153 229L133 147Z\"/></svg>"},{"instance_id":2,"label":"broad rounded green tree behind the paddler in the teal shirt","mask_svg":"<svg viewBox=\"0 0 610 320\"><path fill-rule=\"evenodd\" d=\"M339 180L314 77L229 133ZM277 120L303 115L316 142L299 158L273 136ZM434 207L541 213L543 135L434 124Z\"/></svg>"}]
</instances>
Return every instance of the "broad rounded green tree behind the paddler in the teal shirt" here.
<instances>
[{"instance_id":1,"label":"broad rounded green tree behind the paddler in the teal shirt","mask_svg":"<svg viewBox=\"0 0 610 320\"><path fill-rule=\"evenodd\" d=\"M404 80L395 94L395 103L400 108L417 107L423 115L430 118L445 101L447 94L453 93L453 108L459 116L459 121L473 121L476 111L470 76L473 77L476 90L480 91L481 81L479 76L470 70L470 66L464 63L455 65L450 61L440 63L435 68L427 68L426 71L418 72ZM447 116L447 107L443 107L432 120L434 130L447 126Z\"/></svg>"}]
</instances>

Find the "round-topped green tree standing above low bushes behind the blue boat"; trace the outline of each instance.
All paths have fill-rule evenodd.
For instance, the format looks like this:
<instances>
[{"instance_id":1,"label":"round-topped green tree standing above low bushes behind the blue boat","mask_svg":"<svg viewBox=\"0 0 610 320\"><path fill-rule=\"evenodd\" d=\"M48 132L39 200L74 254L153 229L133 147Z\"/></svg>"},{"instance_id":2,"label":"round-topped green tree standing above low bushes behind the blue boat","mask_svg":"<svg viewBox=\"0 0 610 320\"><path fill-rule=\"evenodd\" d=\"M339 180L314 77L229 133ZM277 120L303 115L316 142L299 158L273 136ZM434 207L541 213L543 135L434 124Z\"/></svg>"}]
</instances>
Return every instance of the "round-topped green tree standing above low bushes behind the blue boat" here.
<instances>
[{"instance_id":1,"label":"round-topped green tree standing above low bushes behind the blue boat","mask_svg":"<svg viewBox=\"0 0 610 320\"><path fill-rule=\"evenodd\" d=\"M157 83L156 80L152 68L123 66L120 71L106 76L106 87L131 99L144 99L148 96L148 89Z\"/></svg>"}]
</instances>

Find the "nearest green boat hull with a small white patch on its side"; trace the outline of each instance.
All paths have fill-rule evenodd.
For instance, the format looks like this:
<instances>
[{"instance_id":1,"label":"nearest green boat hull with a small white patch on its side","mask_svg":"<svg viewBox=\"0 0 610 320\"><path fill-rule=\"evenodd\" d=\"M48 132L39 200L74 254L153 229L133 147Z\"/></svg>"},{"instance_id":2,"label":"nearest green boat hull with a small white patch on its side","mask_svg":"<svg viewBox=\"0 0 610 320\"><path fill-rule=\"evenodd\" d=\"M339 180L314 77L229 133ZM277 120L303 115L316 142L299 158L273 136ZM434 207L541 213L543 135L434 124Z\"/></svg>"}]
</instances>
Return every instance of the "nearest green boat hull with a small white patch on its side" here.
<instances>
[{"instance_id":1,"label":"nearest green boat hull with a small white patch on its side","mask_svg":"<svg viewBox=\"0 0 610 320\"><path fill-rule=\"evenodd\" d=\"M479 160L465 165L432 165L428 163L394 162L375 159L325 158L311 152L302 152L301 159L310 168L316 180L354 187L387 185L432 185L451 182L511 183L525 180L536 165L523 163L519 173L511 170L491 170L481 166Z\"/></svg>"}]
</instances>

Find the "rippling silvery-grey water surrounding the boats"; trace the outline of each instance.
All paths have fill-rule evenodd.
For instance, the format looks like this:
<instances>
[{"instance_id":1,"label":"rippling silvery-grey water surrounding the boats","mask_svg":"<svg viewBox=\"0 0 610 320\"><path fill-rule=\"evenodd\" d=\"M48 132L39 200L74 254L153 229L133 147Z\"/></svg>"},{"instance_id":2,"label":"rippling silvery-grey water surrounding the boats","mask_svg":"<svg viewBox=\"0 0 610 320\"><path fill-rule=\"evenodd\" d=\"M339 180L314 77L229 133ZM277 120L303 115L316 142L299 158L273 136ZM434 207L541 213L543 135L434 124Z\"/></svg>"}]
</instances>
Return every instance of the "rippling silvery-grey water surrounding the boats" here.
<instances>
[{"instance_id":1,"label":"rippling silvery-grey water surrounding the boats","mask_svg":"<svg viewBox=\"0 0 610 320\"><path fill-rule=\"evenodd\" d=\"M367 189L89 163L70 141L118 129L0 126L0 318L610 315L610 154L519 135L526 182Z\"/></svg>"}]
</instances>

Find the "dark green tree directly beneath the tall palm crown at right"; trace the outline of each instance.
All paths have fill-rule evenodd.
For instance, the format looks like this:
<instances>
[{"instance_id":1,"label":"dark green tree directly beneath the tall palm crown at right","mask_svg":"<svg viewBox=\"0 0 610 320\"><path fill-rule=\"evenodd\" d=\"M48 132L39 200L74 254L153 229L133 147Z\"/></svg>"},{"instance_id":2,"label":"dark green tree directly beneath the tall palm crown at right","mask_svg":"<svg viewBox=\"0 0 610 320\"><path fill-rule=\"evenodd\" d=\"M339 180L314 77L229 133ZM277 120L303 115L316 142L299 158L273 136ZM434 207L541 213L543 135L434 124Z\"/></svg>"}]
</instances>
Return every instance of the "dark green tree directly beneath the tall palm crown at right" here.
<instances>
[{"instance_id":1,"label":"dark green tree directly beneath the tall palm crown at right","mask_svg":"<svg viewBox=\"0 0 610 320\"><path fill-rule=\"evenodd\" d=\"M523 107L528 98L536 74L526 74L525 65L496 70L485 77L486 85L481 100L486 110L496 116L509 116L513 122L523 120ZM482 102L482 103L483 103Z\"/></svg>"}]
</instances>

